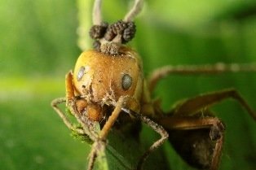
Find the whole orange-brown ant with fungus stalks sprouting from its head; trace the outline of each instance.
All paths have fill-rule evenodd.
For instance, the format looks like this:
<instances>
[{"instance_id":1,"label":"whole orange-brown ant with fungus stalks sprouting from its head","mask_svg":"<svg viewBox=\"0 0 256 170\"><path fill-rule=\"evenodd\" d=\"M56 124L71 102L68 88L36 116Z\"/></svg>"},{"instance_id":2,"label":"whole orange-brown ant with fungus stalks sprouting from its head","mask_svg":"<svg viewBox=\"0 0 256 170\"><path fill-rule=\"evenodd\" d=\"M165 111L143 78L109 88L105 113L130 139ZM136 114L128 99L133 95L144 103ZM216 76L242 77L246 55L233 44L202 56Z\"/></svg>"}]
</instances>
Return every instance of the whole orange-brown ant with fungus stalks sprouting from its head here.
<instances>
[{"instance_id":1,"label":"whole orange-brown ant with fungus stalks sprouting from its head","mask_svg":"<svg viewBox=\"0 0 256 170\"><path fill-rule=\"evenodd\" d=\"M104 150L108 133L127 123L143 122L160 134L139 159L136 169L153 150L166 140L181 157L194 168L218 169L222 154L225 125L215 117L210 107L227 98L241 103L256 120L255 112L236 89L223 89L201 94L179 102L172 111L165 112L151 93L163 77L173 73L251 72L252 65L223 64L192 67L164 67L157 69L145 80L139 54L125 44L135 37L133 20L143 7L143 0L135 0L134 6L123 20L108 24L101 19L101 0L95 0L93 26L90 37L95 40L94 50L84 51L74 71L65 77L66 97L56 98L51 106L64 120L68 129L89 137L93 142L88 170L92 170L100 150ZM68 111L76 118L79 127L73 125L58 105L66 103Z\"/></svg>"}]
</instances>

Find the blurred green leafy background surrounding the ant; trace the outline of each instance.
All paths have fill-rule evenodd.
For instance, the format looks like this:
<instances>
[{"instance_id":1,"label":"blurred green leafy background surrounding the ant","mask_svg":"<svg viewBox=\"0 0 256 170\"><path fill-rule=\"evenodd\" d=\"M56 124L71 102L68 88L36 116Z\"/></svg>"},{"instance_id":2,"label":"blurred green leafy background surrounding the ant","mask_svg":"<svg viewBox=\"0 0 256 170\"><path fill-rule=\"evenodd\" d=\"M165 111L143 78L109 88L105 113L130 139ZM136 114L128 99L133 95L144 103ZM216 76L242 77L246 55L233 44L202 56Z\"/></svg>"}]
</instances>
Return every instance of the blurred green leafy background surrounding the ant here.
<instances>
[{"instance_id":1,"label":"blurred green leafy background surrounding the ant","mask_svg":"<svg viewBox=\"0 0 256 170\"><path fill-rule=\"evenodd\" d=\"M85 168L89 146L70 137L50 102L64 96L64 75L81 52L79 21L90 25L91 3L0 1L0 169ZM129 5L128 0L104 2L104 19L120 20ZM145 0L136 24L130 46L141 54L146 76L166 64L256 62L254 1ZM154 96L168 109L181 98L228 87L256 109L255 73L170 76ZM236 102L222 102L214 111L227 125L221 169L255 169L254 120ZM148 133L157 134L146 131L142 137L152 142ZM168 143L162 149L171 169L188 168Z\"/></svg>"}]
</instances>

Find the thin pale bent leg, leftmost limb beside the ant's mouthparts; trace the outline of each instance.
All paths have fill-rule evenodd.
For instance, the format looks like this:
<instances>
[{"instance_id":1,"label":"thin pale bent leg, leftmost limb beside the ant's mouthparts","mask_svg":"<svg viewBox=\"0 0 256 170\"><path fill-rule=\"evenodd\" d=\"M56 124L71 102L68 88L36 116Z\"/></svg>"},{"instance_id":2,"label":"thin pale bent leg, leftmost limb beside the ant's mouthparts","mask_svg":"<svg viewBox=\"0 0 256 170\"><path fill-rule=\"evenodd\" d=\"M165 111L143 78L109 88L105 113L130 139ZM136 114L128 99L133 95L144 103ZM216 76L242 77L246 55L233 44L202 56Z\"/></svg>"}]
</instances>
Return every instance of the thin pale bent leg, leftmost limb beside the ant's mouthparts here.
<instances>
[{"instance_id":1,"label":"thin pale bent leg, leftmost limb beside the ant's mouthparts","mask_svg":"<svg viewBox=\"0 0 256 170\"><path fill-rule=\"evenodd\" d=\"M54 108L54 110L58 113L60 118L64 121L64 124L68 127L68 129L78 133L78 134L85 134L82 129L77 129L73 126L73 124L68 120L67 116L65 116L64 112L60 110L60 107L58 107L59 104L62 102L66 102L66 98L55 98L51 102L51 107Z\"/></svg>"}]
</instances>

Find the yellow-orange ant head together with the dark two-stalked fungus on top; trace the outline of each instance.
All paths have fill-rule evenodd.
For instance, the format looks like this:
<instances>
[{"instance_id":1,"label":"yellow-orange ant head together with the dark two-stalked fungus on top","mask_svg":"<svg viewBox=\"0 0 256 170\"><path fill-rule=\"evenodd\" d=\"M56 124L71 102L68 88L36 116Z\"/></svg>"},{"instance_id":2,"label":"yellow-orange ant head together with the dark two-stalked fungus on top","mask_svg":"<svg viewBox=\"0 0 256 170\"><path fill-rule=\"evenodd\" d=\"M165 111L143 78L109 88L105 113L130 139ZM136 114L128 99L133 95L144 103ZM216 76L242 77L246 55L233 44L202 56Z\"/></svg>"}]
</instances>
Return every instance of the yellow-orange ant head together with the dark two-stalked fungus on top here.
<instances>
[{"instance_id":1,"label":"yellow-orange ant head together with the dark two-stalked fungus on top","mask_svg":"<svg viewBox=\"0 0 256 170\"><path fill-rule=\"evenodd\" d=\"M125 18L115 24L102 22L100 3L95 0L94 25L90 29L96 50L86 50L77 59L73 72L75 93L98 107L113 105L121 96L140 101L143 94L142 63L139 54L123 44L135 35L132 20L141 10L142 0L135 0Z\"/></svg>"}]
</instances>

